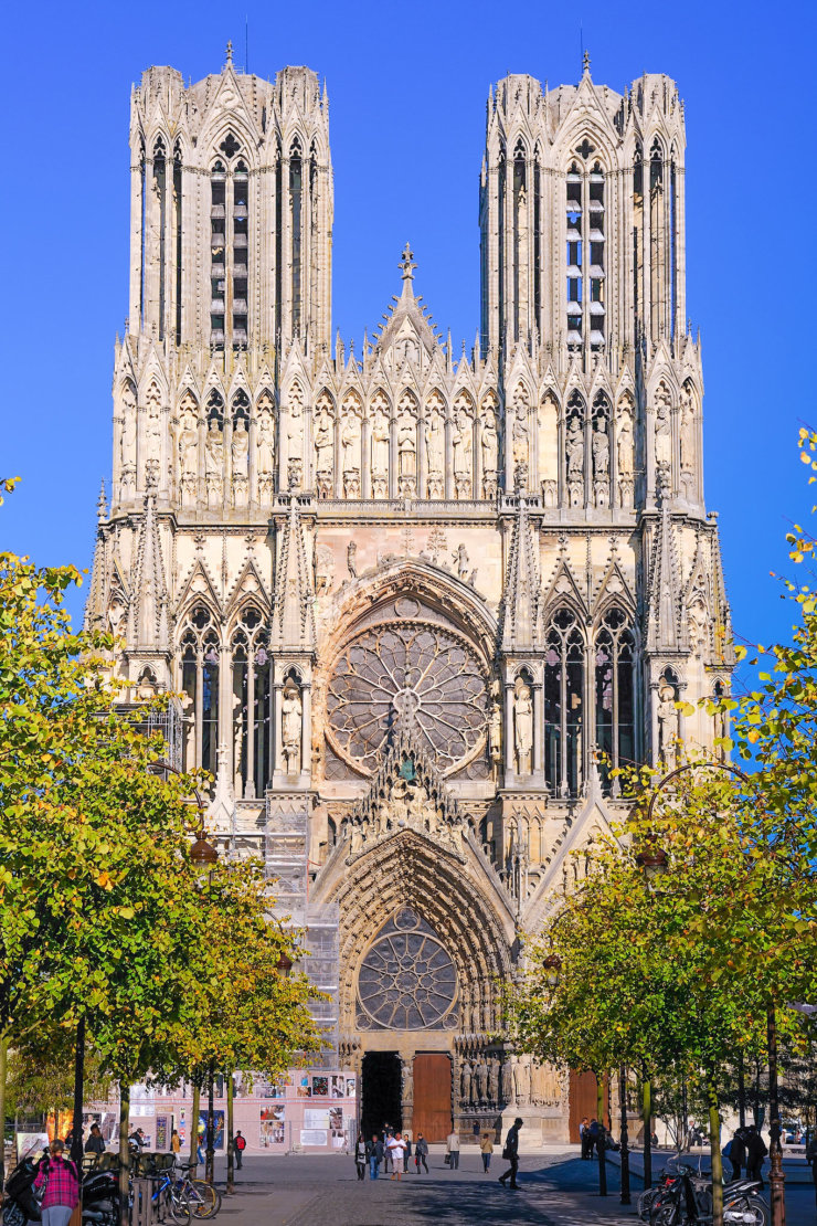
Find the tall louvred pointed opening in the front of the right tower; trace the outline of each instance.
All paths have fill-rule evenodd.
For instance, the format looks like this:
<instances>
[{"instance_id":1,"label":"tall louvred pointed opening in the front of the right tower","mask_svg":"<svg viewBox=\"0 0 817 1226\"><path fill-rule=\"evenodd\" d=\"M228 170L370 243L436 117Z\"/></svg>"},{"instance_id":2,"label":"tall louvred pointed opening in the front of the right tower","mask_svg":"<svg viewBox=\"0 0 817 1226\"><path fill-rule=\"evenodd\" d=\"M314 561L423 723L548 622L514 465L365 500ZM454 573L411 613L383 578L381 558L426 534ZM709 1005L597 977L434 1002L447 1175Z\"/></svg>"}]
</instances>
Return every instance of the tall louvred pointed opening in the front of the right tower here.
<instances>
[{"instance_id":1,"label":"tall louvred pointed opening in the front of the right tower","mask_svg":"<svg viewBox=\"0 0 817 1226\"><path fill-rule=\"evenodd\" d=\"M565 185L567 343L599 349L606 337L606 181L601 163L587 161L587 140L578 152L584 161L571 162Z\"/></svg>"}]
</instances>

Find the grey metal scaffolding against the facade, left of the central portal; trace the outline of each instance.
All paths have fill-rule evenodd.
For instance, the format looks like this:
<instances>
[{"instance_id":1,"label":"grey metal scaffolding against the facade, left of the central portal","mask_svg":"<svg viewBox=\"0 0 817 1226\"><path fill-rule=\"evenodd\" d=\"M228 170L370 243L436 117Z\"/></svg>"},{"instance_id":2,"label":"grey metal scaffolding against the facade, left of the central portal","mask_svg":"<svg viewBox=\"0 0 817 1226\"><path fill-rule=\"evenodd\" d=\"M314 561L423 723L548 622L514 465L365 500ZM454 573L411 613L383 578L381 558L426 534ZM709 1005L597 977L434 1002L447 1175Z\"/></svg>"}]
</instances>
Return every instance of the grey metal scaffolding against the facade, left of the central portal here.
<instances>
[{"instance_id":1,"label":"grey metal scaffolding against the facade, left of the central portal","mask_svg":"<svg viewBox=\"0 0 817 1226\"><path fill-rule=\"evenodd\" d=\"M304 933L305 956L298 964L326 999L314 1000L310 1014L326 1032L327 1046L315 1068L337 1068L339 988L339 907L309 901L309 798L267 793L265 869L274 895L273 915Z\"/></svg>"}]
</instances>

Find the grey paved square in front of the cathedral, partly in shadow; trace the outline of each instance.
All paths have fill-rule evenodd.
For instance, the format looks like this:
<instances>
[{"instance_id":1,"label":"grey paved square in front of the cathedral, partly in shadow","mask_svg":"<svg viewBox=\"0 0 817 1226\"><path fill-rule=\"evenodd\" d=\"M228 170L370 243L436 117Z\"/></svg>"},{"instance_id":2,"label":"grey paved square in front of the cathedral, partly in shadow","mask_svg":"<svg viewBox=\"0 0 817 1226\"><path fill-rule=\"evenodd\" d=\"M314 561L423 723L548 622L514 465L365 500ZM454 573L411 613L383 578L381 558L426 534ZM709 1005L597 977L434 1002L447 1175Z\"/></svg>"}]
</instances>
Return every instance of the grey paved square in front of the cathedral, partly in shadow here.
<instances>
[{"instance_id":1,"label":"grey paved square in front of the cathedral, partly in shadow","mask_svg":"<svg viewBox=\"0 0 817 1226\"><path fill-rule=\"evenodd\" d=\"M337 1155L250 1159L238 1173L239 1194L224 1199L222 1226L620 1226L637 1222L619 1204L619 1172L609 1168L609 1195L598 1195L598 1167L573 1154L525 1156L519 1192L500 1187L505 1163L490 1175L478 1154L463 1154L450 1172L432 1154L429 1175L412 1171L359 1183L352 1159ZM637 1192L641 1184L633 1181ZM633 1198L634 1199L634 1198ZM790 1188L786 1226L815 1226L813 1187Z\"/></svg>"}]
</instances>

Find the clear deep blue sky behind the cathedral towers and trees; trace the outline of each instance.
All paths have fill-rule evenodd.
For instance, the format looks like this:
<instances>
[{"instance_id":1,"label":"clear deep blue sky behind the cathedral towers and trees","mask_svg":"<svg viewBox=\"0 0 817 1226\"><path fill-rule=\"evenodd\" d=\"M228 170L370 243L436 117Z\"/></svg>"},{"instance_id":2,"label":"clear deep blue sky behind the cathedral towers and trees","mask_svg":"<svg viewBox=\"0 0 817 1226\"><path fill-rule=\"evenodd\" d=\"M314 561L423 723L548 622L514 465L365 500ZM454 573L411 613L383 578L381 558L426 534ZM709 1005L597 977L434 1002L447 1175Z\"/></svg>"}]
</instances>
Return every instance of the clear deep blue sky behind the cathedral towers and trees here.
<instances>
[{"instance_id":1,"label":"clear deep blue sky behind the cathedral towers and trees","mask_svg":"<svg viewBox=\"0 0 817 1226\"><path fill-rule=\"evenodd\" d=\"M617 91L666 72L686 99L688 309L703 337L707 501L720 511L735 629L786 633L768 577L810 499L795 454L817 423L817 7L464 2L13 5L4 22L4 547L88 565L110 467L113 342L127 309L129 94L151 64L185 78L235 60L328 82L334 321L370 332L407 238L418 291L456 340L478 324L476 190L489 85L581 75ZM785 256L785 259L784 259ZM790 569L790 568L789 568ZM82 607L77 598L73 609Z\"/></svg>"}]
</instances>

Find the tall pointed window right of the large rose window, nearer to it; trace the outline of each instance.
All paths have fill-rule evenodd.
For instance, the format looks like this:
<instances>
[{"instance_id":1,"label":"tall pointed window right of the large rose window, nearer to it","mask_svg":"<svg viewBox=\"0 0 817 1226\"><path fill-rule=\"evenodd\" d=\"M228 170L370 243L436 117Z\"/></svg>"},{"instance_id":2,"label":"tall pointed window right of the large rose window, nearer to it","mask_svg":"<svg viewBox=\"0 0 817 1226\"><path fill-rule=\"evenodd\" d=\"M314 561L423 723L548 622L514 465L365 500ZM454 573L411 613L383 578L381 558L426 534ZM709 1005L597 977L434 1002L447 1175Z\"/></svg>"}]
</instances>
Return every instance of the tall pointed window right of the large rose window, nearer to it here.
<instances>
[{"instance_id":1,"label":"tall pointed window right of the large rose window, nearer to it","mask_svg":"<svg viewBox=\"0 0 817 1226\"><path fill-rule=\"evenodd\" d=\"M584 734L584 640L571 608L554 613L545 640L545 780L552 796L577 796Z\"/></svg>"}]
</instances>

